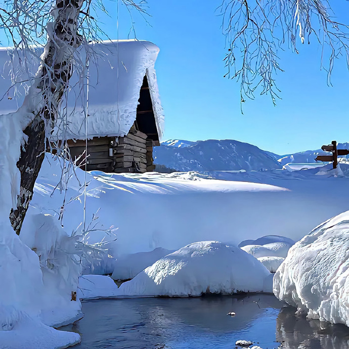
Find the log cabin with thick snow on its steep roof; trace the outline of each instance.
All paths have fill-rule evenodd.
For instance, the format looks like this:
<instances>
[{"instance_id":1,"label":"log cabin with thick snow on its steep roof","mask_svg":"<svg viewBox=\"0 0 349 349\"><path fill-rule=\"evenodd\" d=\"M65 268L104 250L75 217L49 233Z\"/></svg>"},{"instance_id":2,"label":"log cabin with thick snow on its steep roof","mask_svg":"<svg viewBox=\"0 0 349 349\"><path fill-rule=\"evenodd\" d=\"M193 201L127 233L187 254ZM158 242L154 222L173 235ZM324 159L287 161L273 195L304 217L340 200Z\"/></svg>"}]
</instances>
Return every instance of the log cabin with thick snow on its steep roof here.
<instances>
[{"instance_id":1,"label":"log cabin with thick snow on its steep roof","mask_svg":"<svg viewBox=\"0 0 349 349\"><path fill-rule=\"evenodd\" d=\"M85 48L80 50L84 60ZM73 72L69 80L71 90L63 99L51 144L68 140L74 159L83 154L87 138L88 170L154 170L152 150L160 145L164 122L154 69L158 53L159 48L148 41L104 41L89 45L89 93L86 77L82 86L81 74ZM5 114L21 106L25 91L23 86L17 92L11 88L13 65L9 50L0 49L0 57L4 66L0 77L0 98L4 96L0 113ZM38 60L32 59L29 65L28 71L16 76L17 81L34 76Z\"/></svg>"}]
</instances>

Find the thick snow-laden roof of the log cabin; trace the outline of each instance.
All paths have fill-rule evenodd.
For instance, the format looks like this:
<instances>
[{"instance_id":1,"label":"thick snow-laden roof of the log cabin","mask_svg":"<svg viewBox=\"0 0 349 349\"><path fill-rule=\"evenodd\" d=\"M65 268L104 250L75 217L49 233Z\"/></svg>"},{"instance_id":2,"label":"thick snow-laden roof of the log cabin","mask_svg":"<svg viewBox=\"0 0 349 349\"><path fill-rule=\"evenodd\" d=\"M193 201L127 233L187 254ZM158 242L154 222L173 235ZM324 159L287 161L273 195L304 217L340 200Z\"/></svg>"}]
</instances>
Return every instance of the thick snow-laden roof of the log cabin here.
<instances>
[{"instance_id":1,"label":"thick snow-laden roof of the log cabin","mask_svg":"<svg viewBox=\"0 0 349 349\"><path fill-rule=\"evenodd\" d=\"M88 138L124 136L136 120L136 112L143 78L146 75L152 100L157 132L161 140L164 115L154 69L159 48L149 41L113 40L92 43L89 68ZM42 50L42 49L40 49ZM85 47L81 47L84 61ZM25 91L19 86L17 93L11 88L9 50L0 49L0 64L4 67L0 77L0 113L16 111L23 103ZM31 58L29 69L16 74L18 81L34 76L38 59ZM16 64L14 65L17 69ZM85 138L86 78L83 88L79 74L70 78L71 90L63 99L54 139ZM81 80L81 79L80 79ZM18 86L17 86L18 87ZM10 90L9 90L10 89ZM9 91L8 91L9 90ZM3 98L4 96L4 98Z\"/></svg>"}]
</instances>

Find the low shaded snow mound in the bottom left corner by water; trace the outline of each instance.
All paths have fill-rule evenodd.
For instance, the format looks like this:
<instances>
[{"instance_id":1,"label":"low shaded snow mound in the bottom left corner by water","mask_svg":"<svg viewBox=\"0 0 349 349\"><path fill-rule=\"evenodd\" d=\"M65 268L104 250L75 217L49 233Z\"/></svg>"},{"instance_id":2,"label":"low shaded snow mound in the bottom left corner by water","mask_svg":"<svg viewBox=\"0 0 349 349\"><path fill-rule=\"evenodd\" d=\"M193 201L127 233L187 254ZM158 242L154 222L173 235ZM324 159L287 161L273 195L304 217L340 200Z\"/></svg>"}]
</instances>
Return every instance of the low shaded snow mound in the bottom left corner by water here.
<instances>
[{"instance_id":1,"label":"low shaded snow mound in the bottom left corner by water","mask_svg":"<svg viewBox=\"0 0 349 349\"><path fill-rule=\"evenodd\" d=\"M59 349L80 342L74 332L58 331L13 307L0 307L0 349Z\"/></svg>"}]
</instances>

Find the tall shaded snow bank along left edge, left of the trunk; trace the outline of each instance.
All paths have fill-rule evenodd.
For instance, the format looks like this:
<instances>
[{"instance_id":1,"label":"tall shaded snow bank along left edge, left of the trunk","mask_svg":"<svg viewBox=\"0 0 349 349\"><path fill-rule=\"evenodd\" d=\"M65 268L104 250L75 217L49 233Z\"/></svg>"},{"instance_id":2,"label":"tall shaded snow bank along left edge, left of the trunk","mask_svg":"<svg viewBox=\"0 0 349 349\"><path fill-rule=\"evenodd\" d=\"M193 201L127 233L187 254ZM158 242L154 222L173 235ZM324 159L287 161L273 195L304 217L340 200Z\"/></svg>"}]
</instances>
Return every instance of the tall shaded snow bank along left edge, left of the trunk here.
<instances>
[{"instance_id":1,"label":"tall shaded snow bank along left edge, left of the trunk","mask_svg":"<svg viewBox=\"0 0 349 349\"><path fill-rule=\"evenodd\" d=\"M23 110L0 115L0 129L6 130L0 138L0 322L3 329L0 347L63 347L78 342L79 335L43 324L45 320L58 319L53 309L57 293L52 294L52 288L43 281L39 257L20 240L9 220L19 194L20 173L16 163L25 137L22 128L28 117ZM43 311L47 311L45 319L40 318ZM66 316L65 309L61 309L59 319L66 320Z\"/></svg>"}]
</instances>

